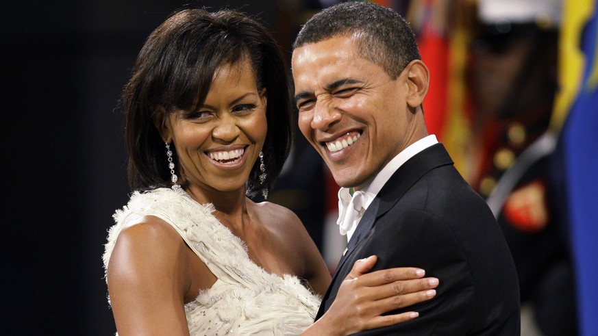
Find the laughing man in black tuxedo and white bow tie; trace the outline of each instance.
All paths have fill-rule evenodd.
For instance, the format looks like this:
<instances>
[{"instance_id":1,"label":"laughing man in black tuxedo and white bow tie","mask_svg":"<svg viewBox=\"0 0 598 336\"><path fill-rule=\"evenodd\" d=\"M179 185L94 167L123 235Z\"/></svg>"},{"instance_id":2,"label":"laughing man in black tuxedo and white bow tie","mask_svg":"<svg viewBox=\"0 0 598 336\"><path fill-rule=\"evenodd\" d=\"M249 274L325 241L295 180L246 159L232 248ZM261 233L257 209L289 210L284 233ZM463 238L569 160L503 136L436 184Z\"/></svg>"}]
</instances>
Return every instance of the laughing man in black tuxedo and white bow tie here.
<instances>
[{"instance_id":1,"label":"laughing man in black tuxedo and white bow tie","mask_svg":"<svg viewBox=\"0 0 598 336\"><path fill-rule=\"evenodd\" d=\"M360 335L519 335L519 285L484 200L428 135L429 72L408 23L369 2L340 3L303 26L292 55L299 128L342 188L349 244L320 307L357 259L440 279L420 316ZM391 313L406 311L404 309Z\"/></svg>"}]
</instances>

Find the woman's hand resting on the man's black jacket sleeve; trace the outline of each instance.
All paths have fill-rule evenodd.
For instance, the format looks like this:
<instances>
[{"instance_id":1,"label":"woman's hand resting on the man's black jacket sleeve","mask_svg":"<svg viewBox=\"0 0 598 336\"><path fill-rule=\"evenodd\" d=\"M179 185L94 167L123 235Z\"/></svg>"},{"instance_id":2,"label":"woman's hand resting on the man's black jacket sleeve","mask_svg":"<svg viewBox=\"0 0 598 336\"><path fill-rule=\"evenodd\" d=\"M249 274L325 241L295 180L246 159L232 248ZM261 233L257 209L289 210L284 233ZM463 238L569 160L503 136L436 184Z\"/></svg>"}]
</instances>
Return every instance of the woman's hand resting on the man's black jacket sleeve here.
<instances>
[{"instance_id":1,"label":"woman's hand resting on the man's black jacket sleeve","mask_svg":"<svg viewBox=\"0 0 598 336\"><path fill-rule=\"evenodd\" d=\"M436 296L438 279L423 278L419 268L390 268L366 273L377 257L356 261L338 289L328 311L305 335L349 335L373 328L407 322L419 316L416 311L382 315L409 307Z\"/></svg>"}]
</instances>

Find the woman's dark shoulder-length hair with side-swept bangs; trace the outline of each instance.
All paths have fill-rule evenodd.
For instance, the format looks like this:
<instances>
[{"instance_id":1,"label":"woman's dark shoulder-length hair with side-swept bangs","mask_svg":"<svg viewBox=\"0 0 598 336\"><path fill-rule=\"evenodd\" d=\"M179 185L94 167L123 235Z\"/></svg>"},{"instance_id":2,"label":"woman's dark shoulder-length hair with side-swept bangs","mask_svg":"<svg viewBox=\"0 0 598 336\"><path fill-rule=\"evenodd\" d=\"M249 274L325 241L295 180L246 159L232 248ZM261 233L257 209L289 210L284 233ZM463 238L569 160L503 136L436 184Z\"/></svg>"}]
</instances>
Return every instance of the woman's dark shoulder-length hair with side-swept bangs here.
<instances>
[{"instance_id":1,"label":"woman's dark shoulder-length hair with side-swept bangs","mask_svg":"<svg viewBox=\"0 0 598 336\"><path fill-rule=\"evenodd\" d=\"M286 59L256 18L233 10L186 9L175 12L147 38L121 96L132 190L170 185L165 144L155 127L156 113L197 108L205 101L214 72L244 57L251 61L258 90L265 88L268 96L268 131L262 148L267 178L260 184L256 162L247 189L271 188L292 141ZM175 152L173 146L171 150Z\"/></svg>"}]
</instances>

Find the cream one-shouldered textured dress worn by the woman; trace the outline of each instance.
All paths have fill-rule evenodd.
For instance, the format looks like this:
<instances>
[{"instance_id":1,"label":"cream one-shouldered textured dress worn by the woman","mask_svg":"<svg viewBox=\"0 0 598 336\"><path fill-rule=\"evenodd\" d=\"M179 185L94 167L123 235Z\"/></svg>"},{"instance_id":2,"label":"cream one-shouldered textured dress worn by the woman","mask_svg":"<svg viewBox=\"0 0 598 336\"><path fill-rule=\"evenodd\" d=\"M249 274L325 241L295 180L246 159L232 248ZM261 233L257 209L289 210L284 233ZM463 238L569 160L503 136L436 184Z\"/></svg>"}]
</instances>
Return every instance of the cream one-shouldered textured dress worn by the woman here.
<instances>
[{"instance_id":1,"label":"cream one-shouldered textured dress worn by the woman","mask_svg":"<svg viewBox=\"0 0 598 336\"><path fill-rule=\"evenodd\" d=\"M269 274L253 263L245 243L183 190L134 192L114 214L103 255L108 266L124 227L156 216L171 224L217 280L185 305L191 335L297 335L314 321L320 300L296 276Z\"/></svg>"}]
</instances>

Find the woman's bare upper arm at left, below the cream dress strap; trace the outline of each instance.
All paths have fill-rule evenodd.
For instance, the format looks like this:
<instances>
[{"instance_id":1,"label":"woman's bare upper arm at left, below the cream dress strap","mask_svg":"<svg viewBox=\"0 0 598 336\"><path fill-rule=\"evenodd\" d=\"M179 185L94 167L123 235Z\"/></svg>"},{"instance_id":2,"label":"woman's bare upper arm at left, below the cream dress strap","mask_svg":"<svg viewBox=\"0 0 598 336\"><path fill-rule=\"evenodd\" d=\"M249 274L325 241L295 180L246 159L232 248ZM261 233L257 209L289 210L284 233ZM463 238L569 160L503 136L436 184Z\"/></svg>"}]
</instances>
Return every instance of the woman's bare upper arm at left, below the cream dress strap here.
<instances>
[{"instance_id":1,"label":"woman's bare upper arm at left, below the cream dress strap","mask_svg":"<svg viewBox=\"0 0 598 336\"><path fill-rule=\"evenodd\" d=\"M175 229L153 216L121 231L107 270L119 335L188 335L184 248Z\"/></svg>"}]
</instances>

